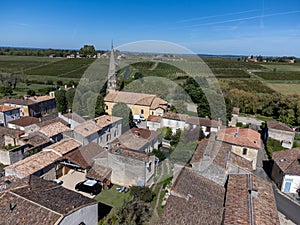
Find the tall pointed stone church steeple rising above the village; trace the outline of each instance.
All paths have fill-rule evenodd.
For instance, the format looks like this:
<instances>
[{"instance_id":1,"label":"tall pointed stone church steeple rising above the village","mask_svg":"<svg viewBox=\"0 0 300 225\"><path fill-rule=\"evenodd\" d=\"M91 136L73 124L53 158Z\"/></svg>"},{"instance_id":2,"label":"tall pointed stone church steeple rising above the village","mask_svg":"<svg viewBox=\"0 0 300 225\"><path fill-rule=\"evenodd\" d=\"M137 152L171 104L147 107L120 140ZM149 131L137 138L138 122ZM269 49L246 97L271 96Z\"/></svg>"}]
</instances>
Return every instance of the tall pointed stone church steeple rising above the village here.
<instances>
[{"instance_id":1,"label":"tall pointed stone church steeple rising above the village","mask_svg":"<svg viewBox=\"0 0 300 225\"><path fill-rule=\"evenodd\" d=\"M116 65L115 65L115 52L114 44L111 42L111 51L108 68L108 79L107 79L107 92L117 91L117 76L116 76Z\"/></svg>"}]
</instances>

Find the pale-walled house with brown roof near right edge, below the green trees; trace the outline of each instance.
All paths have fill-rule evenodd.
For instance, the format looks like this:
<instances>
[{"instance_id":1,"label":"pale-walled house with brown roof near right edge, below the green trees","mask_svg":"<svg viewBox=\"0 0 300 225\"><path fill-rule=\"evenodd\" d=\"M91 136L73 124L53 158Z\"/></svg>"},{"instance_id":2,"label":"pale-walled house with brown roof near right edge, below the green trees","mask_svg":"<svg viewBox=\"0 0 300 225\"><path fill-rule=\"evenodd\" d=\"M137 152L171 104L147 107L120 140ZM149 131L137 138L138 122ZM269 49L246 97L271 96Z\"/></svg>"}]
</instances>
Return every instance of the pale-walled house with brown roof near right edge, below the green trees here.
<instances>
[{"instance_id":1,"label":"pale-walled house with brown roof near right edge, below the green trees","mask_svg":"<svg viewBox=\"0 0 300 225\"><path fill-rule=\"evenodd\" d=\"M284 123L267 121L267 136L280 141L282 147L291 149L294 144L295 131Z\"/></svg>"}]
</instances>

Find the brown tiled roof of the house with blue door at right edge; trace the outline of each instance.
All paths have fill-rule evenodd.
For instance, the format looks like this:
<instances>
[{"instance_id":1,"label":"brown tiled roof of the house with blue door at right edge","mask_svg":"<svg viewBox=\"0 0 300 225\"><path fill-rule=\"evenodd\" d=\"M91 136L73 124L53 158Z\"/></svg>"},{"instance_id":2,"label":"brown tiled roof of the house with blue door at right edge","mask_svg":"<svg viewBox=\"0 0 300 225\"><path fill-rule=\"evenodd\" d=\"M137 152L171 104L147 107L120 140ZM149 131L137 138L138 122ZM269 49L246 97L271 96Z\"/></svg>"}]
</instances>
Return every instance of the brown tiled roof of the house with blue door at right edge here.
<instances>
[{"instance_id":1,"label":"brown tiled roof of the house with blue door at right edge","mask_svg":"<svg viewBox=\"0 0 300 225\"><path fill-rule=\"evenodd\" d=\"M300 148L273 152L272 159L285 174L300 176Z\"/></svg>"}]
</instances>

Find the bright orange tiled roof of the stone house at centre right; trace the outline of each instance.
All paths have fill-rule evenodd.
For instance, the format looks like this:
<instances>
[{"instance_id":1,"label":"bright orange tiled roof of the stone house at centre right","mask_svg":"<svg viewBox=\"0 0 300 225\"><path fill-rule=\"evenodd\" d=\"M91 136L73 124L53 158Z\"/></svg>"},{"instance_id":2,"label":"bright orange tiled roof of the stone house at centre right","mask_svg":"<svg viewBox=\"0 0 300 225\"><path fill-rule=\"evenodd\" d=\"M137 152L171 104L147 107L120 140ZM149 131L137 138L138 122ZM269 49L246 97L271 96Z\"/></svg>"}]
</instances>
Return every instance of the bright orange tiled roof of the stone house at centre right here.
<instances>
[{"instance_id":1,"label":"bright orange tiled roof of the stone house at centre right","mask_svg":"<svg viewBox=\"0 0 300 225\"><path fill-rule=\"evenodd\" d=\"M261 148L260 134L248 128L228 127L217 131L217 140L232 145Z\"/></svg>"}]
</instances>

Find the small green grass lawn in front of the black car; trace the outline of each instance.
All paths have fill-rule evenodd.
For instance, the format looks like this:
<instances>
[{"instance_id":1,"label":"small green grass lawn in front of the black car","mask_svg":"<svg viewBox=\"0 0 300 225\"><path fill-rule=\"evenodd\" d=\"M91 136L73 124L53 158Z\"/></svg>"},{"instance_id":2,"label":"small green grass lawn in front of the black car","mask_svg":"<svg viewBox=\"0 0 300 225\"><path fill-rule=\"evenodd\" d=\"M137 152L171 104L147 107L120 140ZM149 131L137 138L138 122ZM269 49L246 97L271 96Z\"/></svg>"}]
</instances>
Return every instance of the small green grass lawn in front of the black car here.
<instances>
[{"instance_id":1,"label":"small green grass lawn in front of the black car","mask_svg":"<svg viewBox=\"0 0 300 225\"><path fill-rule=\"evenodd\" d=\"M94 197L98 202L104 203L112 207L122 207L125 200L130 197L129 191L127 193L120 193L116 190L118 185L113 185L109 190L102 190L100 194Z\"/></svg>"}]
</instances>

